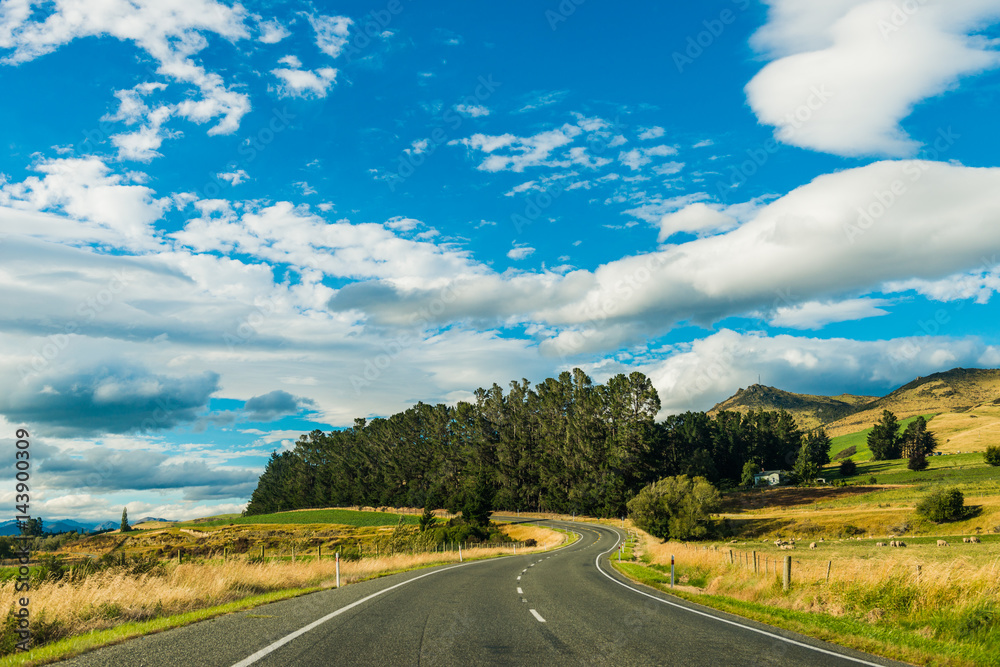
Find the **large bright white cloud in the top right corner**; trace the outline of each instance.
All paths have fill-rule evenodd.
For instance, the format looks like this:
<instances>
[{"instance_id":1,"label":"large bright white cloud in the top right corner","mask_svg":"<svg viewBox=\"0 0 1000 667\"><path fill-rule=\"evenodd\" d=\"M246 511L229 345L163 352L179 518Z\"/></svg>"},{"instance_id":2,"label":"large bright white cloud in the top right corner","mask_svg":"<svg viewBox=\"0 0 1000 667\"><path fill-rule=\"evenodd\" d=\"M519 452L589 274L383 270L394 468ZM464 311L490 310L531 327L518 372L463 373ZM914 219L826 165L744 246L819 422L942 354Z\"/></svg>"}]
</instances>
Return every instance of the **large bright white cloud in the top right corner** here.
<instances>
[{"instance_id":1,"label":"large bright white cloud in the top right corner","mask_svg":"<svg viewBox=\"0 0 1000 667\"><path fill-rule=\"evenodd\" d=\"M762 123L788 144L836 155L914 154L900 127L913 107L1000 64L978 34L1000 0L768 0L758 50L774 58L746 86Z\"/></svg>"}]
</instances>

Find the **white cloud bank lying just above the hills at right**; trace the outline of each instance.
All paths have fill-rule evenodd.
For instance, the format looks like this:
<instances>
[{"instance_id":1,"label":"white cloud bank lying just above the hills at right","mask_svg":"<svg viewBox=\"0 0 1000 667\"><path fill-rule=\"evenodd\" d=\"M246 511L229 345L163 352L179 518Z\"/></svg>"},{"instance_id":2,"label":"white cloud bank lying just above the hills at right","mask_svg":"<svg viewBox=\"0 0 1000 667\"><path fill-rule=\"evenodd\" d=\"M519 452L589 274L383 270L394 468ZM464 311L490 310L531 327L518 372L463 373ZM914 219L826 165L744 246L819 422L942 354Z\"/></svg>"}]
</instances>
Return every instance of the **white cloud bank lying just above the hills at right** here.
<instances>
[{"instance_id":1,"label":"white cloud bank lying just above the hills at right","mask_svg":"<svg viewBox=\"0 0 1000 667\"><path fill-rule=\"evenodd\" d=\"M707 410L737 387L757 382L800 393L881 395L917 375L956 366L988 365L995 348L982 341L915 336L857 341L737 333L723 329L678 345L643 365L660 393L664 414ZM626 367L605 367L603 373ZM597 373L595 373L597 375Z\"/></svg>"}]
</instances>

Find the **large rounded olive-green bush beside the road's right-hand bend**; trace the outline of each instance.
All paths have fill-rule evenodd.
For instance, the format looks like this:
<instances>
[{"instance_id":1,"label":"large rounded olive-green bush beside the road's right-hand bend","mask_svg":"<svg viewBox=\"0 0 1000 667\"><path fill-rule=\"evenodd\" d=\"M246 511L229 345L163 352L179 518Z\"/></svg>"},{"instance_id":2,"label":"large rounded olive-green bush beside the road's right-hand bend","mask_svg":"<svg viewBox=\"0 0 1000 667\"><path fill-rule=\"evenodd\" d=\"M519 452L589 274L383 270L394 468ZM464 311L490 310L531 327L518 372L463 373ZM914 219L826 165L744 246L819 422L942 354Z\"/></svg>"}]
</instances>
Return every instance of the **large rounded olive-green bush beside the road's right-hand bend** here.
<instances>
[{"instance_id":1,"label":"large rounded olive-green bush beside the road's right-hand bend","mask_svg":"<svg viewBox=\"0 0 1000 667\"><path fill-rule=\"evenodd\" d=\"M719 504L719 492L707 479L679 475L643 487L628 509L629 518L650 535L685 540L708 533L709 515Z\"/></svg>"}]
</instances>

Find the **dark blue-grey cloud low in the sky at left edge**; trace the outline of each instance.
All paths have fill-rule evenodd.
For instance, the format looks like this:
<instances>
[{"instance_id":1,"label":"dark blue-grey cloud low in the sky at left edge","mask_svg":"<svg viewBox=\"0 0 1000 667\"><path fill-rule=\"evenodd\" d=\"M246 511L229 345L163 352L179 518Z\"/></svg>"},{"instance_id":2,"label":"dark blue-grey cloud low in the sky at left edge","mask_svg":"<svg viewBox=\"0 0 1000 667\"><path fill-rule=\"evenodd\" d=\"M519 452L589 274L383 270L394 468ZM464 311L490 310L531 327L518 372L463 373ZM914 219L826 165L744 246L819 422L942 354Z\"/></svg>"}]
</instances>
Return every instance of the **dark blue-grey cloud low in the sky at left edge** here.
<instances>
[{"instance_id":1,"label":"dark blue-grey cloud low in the sky at left edge","mask_svg":"<svg viewBox=\"0 0 1000 667\"><path fill-rule=\"evenodd\" d=\"M152 432L192 422L219 389L212 372L172 377L121 363L47 371L9 382L0 413L50 434Z\"/></svg>"}]
</instances>

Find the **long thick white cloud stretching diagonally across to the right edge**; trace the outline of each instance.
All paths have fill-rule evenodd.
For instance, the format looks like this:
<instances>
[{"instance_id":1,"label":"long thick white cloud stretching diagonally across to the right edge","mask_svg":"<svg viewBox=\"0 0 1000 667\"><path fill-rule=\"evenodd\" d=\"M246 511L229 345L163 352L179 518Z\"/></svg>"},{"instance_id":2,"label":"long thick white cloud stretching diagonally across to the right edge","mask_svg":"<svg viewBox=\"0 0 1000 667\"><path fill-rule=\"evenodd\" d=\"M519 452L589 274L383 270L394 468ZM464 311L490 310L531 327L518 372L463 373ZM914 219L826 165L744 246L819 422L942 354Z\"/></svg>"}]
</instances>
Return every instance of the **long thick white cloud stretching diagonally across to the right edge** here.
<instances>
[{"instance_id":1,"label":"long thick white cloud stretching diagonally across to the right edge","mask_svg":"<svg viewBox=\"0 0 1000 667\"><path fill-rule=\"evenodd\" d=\"M820 176L753 209L729 232L594 271L455 280L454 298L439 312L442 319L491 312L556 327L558 333L546 330L541 348L565 355L613 349L679 322L708 325L761 309L856 298L887 282L939 280L979 266L984 253L1000 250L998 191L1000 169L878 162ZM331 307L365 304L372 320L388 321L432 298L357 283L340 290ZM819 318L816 305L801 307L800 315ZM779 317L793 316L786 310Z\"/></svg>"}]
</instances>

